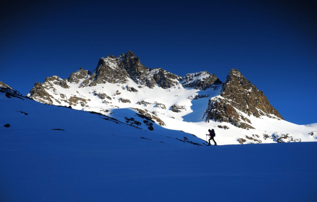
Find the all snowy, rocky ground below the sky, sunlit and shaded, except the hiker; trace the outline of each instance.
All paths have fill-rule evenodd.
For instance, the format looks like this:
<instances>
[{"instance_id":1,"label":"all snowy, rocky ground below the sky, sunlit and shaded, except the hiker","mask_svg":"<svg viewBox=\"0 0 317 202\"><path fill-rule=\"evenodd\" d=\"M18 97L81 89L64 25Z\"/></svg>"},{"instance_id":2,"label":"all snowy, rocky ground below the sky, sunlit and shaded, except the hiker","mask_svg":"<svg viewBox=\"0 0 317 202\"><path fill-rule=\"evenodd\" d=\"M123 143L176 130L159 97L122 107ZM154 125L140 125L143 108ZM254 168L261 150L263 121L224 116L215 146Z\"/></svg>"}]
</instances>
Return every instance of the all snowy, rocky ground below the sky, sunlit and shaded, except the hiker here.
<instances>
[{"instance_id":1,"label":"all snowy, rocky ground below the sky, sunlit and shaded, except the hiker","mask_svg":"<svg viewBox=\"0 0 317 202\"><path fill-rule=\"evenodd\" d=\"M282 120L238 69L221 86L130 51L99 64L27 97L0 82L0 202L317 201L317 124Z\"/></svg>"}]
</instances>

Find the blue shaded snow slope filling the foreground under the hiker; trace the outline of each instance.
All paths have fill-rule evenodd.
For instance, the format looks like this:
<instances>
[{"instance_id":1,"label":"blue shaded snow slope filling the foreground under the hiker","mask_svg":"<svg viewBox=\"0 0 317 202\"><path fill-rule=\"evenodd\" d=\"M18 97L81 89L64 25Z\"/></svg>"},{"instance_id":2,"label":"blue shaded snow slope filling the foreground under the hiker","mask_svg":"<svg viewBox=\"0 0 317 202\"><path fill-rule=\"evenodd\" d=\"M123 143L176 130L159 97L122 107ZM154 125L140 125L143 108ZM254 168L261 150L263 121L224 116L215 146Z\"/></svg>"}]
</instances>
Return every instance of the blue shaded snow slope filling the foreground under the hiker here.
<instances>
[{"instance_id":1,"label":"blue shaded snow slope filling the foreground under the hiker","mask_svg":"<svg viewBox=\"0 0 317 202\"><path fill-rule=\"evenodd\" d=\"M316 142L197 146L157 124L146 131L21 98L0 93L1 202L317 199ZM131 109L116 114L142 121Z\"/></svg>"}]
</instances>

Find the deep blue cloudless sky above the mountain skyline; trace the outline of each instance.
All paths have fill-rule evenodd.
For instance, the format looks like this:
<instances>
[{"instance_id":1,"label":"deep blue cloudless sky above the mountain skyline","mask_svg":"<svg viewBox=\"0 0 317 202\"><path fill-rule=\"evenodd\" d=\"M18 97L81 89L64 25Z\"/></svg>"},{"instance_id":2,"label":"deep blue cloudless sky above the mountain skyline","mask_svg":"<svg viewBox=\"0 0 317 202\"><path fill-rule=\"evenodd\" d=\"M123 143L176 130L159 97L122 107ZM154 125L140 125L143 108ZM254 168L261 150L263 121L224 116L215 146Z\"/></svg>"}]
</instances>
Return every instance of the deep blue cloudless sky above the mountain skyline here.
<instances>
[{"instance_id":1,"label":"deep blue cloudless sky above the mountain skyline","mask_svg":"<svg viewBox=\"0 0 317 202\"><path fill-rule=\"evenodd\" d=\"M133 51L177 75L231 68L285 120L317 123L316 1L2 1L0 80L22 94L35 81L92 71Z\"/></svg>"}]
</instances>

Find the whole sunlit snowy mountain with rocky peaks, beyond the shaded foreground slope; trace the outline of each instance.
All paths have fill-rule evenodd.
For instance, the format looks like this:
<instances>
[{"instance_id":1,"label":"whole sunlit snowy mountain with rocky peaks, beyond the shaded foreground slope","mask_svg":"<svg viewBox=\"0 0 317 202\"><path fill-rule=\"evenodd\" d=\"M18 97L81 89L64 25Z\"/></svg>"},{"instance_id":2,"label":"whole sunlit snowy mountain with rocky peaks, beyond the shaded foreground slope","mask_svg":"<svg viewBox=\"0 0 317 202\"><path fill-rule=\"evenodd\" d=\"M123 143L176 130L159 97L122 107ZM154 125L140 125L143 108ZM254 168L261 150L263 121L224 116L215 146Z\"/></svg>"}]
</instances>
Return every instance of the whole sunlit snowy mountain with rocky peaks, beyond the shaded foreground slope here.
<instances>
[{"instance_id":1,"label":"whole sunlit snowy mountain with rocky peaks, beyond the shaded foreground slope","mask_svg":"<svg viewBox=\"0 0 317 202\"><path fill-rule=\"evenodd\" d=\"M218 144L317 140L317 124L286 122L238 69L231 69L224 82L208 71L183 77L147 68L131 51L101 58L93 72L80 67L68 79L47 77L27 97L137 125L134 117L122 113L133 110L163 128L201 139L214 128Z\"/></svg>"}]
</instances>

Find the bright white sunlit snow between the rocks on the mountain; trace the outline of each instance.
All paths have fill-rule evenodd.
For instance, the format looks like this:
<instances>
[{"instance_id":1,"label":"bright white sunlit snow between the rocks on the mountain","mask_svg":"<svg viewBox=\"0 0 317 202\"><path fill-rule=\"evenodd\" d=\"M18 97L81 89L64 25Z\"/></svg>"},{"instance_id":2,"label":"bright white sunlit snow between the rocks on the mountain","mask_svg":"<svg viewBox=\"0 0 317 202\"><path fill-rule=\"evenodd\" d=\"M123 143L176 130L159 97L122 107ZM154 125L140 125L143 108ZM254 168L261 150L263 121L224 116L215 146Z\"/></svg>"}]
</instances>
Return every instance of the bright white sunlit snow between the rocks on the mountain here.
<instances>
[{"instance_id":1,"label":"bright white sunlit snow between the rocks on the mountain","mask_svg":"<svg viewBox=\"0 0 317 202\"><path fill-rule=\"evenodd\" d=\"M105 60L108 66L111 66L111 68L119 68L113 62L114 59L108 57L103 60ZM158 70L159 68L152 69L149 74L152 74ZM197 79L204 79L210 74L207 71L202 71L187 75L187 77L192 77L192 80L185 83L193 82ZM194 75L197 76L194 77ZM57 79L62 80L59 77L57 77ZM163 120L166 124L166 126L164 126L166 129L191 133L203 140L206 140L208 129L214 129L216 132L215 140L217 141L218 145L239 144L238 138L245 139L246 141L244 143L273 143L277 142L277 139L282 135L287 135L290 137L285 138L285 141L317 141L316 133L315 135L310 135L311 132L317 131L317 127L315 125L301 126L283 120L271 119L266 116L256 118L253 116L248 116L243 112L239 112L238 109L236 109L237 112L244 117L247 117L251 121L250 125L254 127L255 130L240 129L231 125L230 123L224 122L219 123L210 121L209 123L206 123L206 117L204 117L204 113L208 107L208 101L209 99L216 99L219 96L221 86L219 86L216 90L184 88L182 84L179 83L177 79L175 79L175 82L177 82L176 86L168 89L163 89L159 86L155 86L154 88L149 88L146 86L139 88L139 84L135 83L132 79L127 78L128 82L124 84L104 83L97 84L96 86L86 86L79 88L83 80L84 79L82 79L77 84L66 81L70 86L68 89L54 84L53 81L46 81L43 85L46 87L47 92L55 98L53 99L54 105L69 106L69 104L63 100L67 100L71 96L77 96L79 98L84 98L87 103L83 107L80 105L80 103L78 103L76 106L72 105L73 109L98 112L121 121L124 119L124 115L122 115L123 117L118 116L118 109L146 109L150 112L153 112L159 119ZM131 87L137 89L138 92L128 91L128 88ZM99 93L105 93L111 97L111 100L107 98L100 99L99 96L95 95ZM66 98L62 98L61 94L65 95ZM197 95L207 95L207 97L189 99ZM120 99L128 99L131 103L121 102ZM56 100L59 100L61 104ZM41 102L42 100L38 101ZM148 104L147 106L137 104L138 102L142 101L151 104ZM163 104L166 109L157 107L157 103ZM183 109L181 109L181 111L178 113L171 111L171 106L174 104L181 106ZM124 112L126 111L129 110L125 110ZM274 117L274 115L270 116ZM240 121L243 122L242 120ZM227 126L229 129L225 130L218 128L218 126ZM254 135L259 135L259 137L256 137L256 139L260 141L251 140L247 138L246 135L248 137L252 137L253 135L252 138L254 138ZM265 138L263 135L268 135L269 138Z\"/></svg>"}]
</instances>

